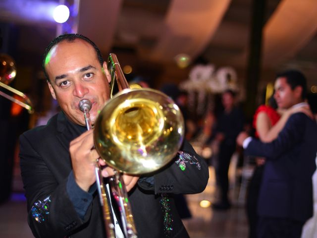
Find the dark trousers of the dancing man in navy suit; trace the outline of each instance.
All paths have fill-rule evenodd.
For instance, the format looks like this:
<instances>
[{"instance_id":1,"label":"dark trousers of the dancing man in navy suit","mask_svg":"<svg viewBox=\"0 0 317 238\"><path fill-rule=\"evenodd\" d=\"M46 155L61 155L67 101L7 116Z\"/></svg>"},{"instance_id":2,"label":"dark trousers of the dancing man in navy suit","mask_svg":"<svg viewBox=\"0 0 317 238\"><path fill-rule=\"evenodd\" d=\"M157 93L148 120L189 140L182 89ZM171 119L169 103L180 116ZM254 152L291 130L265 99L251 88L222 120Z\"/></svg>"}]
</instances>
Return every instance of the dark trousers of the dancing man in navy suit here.
<instances>
[{"instance_id":1,"label":"dark trousers of the dancing man in navy suit","mask_svg":"<svg viewBox=\"0 0 317 238\"><path fill-rule=\"evenodd\" d=\"M292 219L260 216L257 238L301 238L303 225Z\"/></svg>"}]
</instances>

